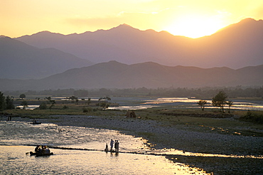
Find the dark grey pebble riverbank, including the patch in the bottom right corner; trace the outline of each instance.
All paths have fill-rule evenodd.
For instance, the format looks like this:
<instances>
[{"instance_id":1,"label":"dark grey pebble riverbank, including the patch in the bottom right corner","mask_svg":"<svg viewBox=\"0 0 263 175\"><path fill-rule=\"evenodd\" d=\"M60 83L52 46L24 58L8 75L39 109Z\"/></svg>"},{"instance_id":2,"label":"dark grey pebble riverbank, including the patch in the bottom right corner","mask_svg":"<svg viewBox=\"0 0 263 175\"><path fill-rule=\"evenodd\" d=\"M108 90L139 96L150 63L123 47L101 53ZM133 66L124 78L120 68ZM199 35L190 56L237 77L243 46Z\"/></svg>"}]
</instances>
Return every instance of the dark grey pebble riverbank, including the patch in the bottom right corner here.
<instances>
[{"instance_id":1,"label":"dark grey pebble riverbank, including the patch in the bottom right corner","mask_svg":"<svg viewBox=\"0 0 263 175\"><path fill-rule=\"evenodd\" d=\"M29 121L28 118L20 117L14 117L14 120ZM217 120L223 122L222 119ZM263 137L224 134L224 132L220 134L188 124L168 124L167 121L141 120L117 115L108 117L51 115L41 119L41 122L52 122L63 126L119 130L124 134L147 139L151 149L172 148L182 150L182 152L243 156L243 158L167 156L171 161L189 164L189 166L205 169L213 174L261 174L263 171L263 159L249 158L249 156L263 155Z\"/></svg>"}]
</instances>

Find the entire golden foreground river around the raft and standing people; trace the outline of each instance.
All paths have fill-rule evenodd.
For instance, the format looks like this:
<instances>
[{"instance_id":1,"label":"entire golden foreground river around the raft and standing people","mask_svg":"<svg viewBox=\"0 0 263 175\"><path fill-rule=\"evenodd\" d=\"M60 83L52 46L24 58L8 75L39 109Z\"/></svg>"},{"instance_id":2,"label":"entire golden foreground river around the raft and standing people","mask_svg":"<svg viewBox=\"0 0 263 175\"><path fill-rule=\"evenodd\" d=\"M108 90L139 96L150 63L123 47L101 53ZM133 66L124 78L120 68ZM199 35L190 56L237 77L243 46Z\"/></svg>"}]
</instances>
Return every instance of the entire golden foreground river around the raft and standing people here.
<instances>
[{"instance_id":1,"label":"entire golden foreground river around the raft and standing people","mask_svg":"<svg viewBox=\"0 0 263 175\"><path fill-rule=\"evenodd\" d=\"M119 154L102 151L110 139L119 140ZM163 156L132 154L147 152L144 142L108 129L0 121L0 174L206 174ZM37 144L54 155L26 154Z\"/></svg>"}]
</instances>

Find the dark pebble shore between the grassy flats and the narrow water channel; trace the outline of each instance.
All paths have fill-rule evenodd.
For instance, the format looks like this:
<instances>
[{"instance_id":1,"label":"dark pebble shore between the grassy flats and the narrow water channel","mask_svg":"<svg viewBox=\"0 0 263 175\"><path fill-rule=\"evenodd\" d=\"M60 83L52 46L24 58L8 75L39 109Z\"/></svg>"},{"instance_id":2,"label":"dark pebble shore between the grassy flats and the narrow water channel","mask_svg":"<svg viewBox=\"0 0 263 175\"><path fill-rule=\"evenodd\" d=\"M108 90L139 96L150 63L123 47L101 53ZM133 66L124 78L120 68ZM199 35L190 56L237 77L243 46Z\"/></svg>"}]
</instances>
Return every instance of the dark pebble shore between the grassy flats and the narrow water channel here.
<instances>
[{"instance_id":1,"label":"dark pebble shore between the grassy flats and the narrow water channel","mask_svg":"<svg viewBox=\"0 0 263 175\"><path fill-rule=\"evenodd\" d=\"M263 155L263 137L190 131L188 127L170 127L154 120L125 117L53 116L58 125L115 129L124 134L146 137L156 149L211 154Z\"/></svg>"}]
</instances>

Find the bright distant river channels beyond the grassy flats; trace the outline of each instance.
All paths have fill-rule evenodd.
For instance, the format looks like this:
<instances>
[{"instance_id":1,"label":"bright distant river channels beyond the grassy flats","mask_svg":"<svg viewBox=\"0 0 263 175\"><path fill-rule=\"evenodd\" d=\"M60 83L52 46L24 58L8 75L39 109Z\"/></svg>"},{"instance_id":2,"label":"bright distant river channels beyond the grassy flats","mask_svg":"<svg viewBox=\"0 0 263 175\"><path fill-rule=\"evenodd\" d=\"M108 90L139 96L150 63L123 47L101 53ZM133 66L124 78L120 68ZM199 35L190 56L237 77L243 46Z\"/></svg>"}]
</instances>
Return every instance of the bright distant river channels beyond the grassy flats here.
<instances>
[{"instance_id":1,"label":"bright distant river channels beyond the grassy flats","mask_svg":"<svg viewBox=\"0 0 263 175\"><path fill-rule=\"evenodd\" d=\"M68 100L65 97L52 97L55 100ZM81 97L82 98L82 97ZM87 100L87 97L82 99ZM118 107L109 107L109 110L140 110L151 107L176 107L176 108L200 108L197 102L200 99L188 97L112 97L110 102L116 102ZM93 97L92 100L99 100L99 97ZM206 100L205 108L215 108L212 106L212 100ZM231 110L263 110L263 100L232 100ZM18 105L16 107L23 108ZM33 110L39 105L28 105L26 110ZM227 109L225 105L225 109Z\"/></svg>"}]
</instances>

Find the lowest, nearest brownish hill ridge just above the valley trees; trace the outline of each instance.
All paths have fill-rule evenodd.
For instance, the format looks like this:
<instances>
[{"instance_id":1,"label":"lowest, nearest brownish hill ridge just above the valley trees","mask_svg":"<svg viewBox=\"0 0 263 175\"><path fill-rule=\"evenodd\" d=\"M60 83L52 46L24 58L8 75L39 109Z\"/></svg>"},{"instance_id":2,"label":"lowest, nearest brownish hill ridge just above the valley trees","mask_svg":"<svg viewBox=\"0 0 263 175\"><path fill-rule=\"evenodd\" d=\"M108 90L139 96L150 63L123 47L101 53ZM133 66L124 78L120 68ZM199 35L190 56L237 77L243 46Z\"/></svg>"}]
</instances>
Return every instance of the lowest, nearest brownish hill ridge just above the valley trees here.
<instances>
[{"instance_id":1,"label":"lowest, nearest brownish hill ridge just above the valley trees","mask_svg":"<svg viewBox=\"0 0 263 175\"><path fill-rule=\"evenodd\" d=\"M0 90L262 86L262 77L263 65L233 70L166 66L153 62L127 65L109 61L70 69L40 80L0 79Z\"/></svg>"}]
</instances>

